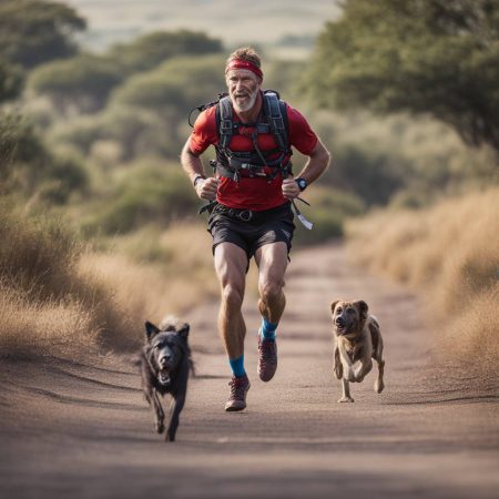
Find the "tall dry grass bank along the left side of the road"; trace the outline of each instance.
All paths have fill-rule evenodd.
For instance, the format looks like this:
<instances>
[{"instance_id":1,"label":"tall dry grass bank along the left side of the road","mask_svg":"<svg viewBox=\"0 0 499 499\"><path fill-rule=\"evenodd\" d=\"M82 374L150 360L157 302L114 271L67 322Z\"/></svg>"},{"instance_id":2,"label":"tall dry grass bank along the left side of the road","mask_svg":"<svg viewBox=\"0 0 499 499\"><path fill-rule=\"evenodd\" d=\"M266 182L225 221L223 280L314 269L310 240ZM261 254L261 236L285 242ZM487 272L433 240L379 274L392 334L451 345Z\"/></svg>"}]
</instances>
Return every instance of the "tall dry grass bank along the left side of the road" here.
<instances>
[{"instance_id":1,"label":"tall dry grass bank along the left side of the road","mask_svg":"<svg viewBox=\"0 0 499 499\"><path fill-rule=\"evenodd\" d=\"M142 342L145 319L184 313L214 293L203 286L214 281L210 251L210 261L190 258L200 245L189 228L143 241L141 248L162 247L169 264L138 263L124 254L89 251L61 221L33 218L2 204L0 241L2 354L132 350Z\"/></svg>"}]
</instances>

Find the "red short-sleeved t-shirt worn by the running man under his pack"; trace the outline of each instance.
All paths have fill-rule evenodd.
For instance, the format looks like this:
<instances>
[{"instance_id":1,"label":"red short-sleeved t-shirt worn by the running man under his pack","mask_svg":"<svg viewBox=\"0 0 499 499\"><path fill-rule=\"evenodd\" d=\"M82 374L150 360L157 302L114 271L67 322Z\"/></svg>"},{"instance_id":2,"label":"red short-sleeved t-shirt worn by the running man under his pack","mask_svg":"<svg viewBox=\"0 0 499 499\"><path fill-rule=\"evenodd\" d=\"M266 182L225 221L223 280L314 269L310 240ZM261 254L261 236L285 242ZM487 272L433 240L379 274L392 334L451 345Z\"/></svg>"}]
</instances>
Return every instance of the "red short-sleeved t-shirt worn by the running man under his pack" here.
<instances>
[{"instance_id":1,"label":"red short-sleeved t-shirt worn by the running man under his pack","mask_svg":"<svg viewBox=\"0 0 499 499\"><path fill-rule=\"evenodd\" d=\"M203 111L194 123L194 130L191 134L190 147L195 155L202 154L210 145L218 144L218 134L216 130L216 106ZM291 105L286 104L289 145L296 147L302 154L309 155L317 144L317 135L310 129L305 118ZM238 121L234 112L233 119ZM253 128L242 126L238 134L234 134L231 140L230 149L234 152L249 152L254 150L251 133ZM259 133L258 149L269 151L278 147L272 133ZM271 210L286 203L283 196L283 177L277 175L268 182L265 177L241 176L238 182L220 176L216 201L233 208L252 210L255 212Z\"/></svg>"}]
</instances>

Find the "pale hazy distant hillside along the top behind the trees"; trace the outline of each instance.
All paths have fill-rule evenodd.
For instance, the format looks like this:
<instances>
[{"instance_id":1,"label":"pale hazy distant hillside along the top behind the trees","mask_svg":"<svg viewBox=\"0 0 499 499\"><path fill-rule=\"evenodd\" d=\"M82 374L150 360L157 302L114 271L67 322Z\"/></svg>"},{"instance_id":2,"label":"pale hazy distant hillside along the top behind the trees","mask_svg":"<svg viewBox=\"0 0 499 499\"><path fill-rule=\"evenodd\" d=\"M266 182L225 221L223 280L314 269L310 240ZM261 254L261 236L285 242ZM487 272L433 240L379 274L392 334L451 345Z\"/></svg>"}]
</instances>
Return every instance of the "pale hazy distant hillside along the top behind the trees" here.
<instances>
[{"instance_id":1,"label":"pale hazy distant hillside along the top behind the trees","mask_svg":"<svg viewBox=\"0 0 499 499\"><path fill-rule=\"evenodd\" d=\"M186 28L221 38L227 47L258 43L304 53L324 22L339 13L337 0L253 0L244 4L231 0L55 1L74 7L88 19L82 43L92 50L149 31Z\"/></svg>"}]
</instances>

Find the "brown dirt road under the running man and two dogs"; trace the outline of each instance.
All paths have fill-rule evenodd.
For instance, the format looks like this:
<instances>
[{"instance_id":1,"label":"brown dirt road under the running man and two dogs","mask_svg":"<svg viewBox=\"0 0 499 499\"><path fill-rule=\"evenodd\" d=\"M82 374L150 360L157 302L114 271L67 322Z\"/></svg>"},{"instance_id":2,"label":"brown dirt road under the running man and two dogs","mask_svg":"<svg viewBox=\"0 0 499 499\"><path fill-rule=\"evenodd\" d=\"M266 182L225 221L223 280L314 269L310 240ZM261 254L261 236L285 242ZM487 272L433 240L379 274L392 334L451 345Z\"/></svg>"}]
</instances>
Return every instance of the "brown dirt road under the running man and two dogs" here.
<instances>
[{"instance_id":1,"label":"brown dirt road under the running man and two dogs","mask_svg":"<svg viewBox=\"0 0 499 499\"><path fill-rule=\"evenodd\" d=\"M279 326L279 368L256 376L255 297L245 299L248 408L226 414L228 367L216 304L191 322L197 378L177 441L152 430L136 368L109 355L0 369L0 497L498 498L497 380L428 365L418 301L346 263L339 246L295 252ZM328 304L361 297L386 345L386 389L371 373L337 404ZM29 332L27 332L29 334Z\"/></svg>"}]
</instances>

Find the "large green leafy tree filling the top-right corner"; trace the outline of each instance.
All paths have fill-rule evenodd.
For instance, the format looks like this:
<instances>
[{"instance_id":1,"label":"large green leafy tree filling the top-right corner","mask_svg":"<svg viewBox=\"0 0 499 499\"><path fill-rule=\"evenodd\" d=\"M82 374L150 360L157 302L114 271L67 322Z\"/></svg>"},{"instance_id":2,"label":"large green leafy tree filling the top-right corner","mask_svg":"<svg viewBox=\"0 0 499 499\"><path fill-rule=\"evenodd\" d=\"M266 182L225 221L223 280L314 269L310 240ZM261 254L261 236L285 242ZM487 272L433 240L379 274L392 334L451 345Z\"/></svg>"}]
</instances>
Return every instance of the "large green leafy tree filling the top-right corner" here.
<instances>
[{"instance_id":1,"label":"large green leafy tree filling the top-right corner","mask_svg":"<svg viewBox=\"0 0 499 499\"><path fill-rule=\"evenodd\" d=\"M499 0L346 0L318 38L316 103L430 113L499 152Z\"/></svg>"}]
</instances>

